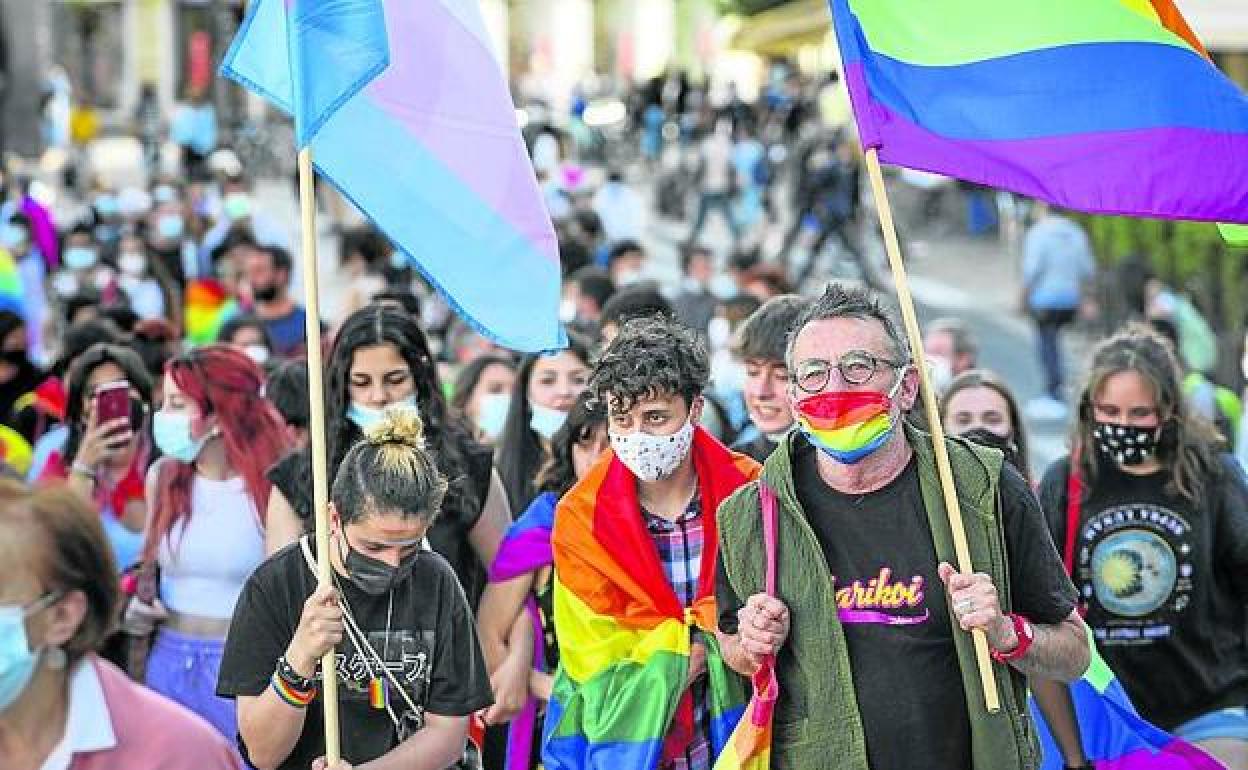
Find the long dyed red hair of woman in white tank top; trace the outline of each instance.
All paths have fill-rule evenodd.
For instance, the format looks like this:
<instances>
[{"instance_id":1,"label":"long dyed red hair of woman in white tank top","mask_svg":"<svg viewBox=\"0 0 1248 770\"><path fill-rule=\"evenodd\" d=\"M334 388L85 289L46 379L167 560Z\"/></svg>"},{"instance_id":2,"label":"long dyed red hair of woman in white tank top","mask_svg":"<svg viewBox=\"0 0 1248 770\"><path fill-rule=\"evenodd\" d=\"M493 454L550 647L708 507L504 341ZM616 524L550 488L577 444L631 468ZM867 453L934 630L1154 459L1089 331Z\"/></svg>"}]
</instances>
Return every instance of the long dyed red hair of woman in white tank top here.
<instances>
[{"instance_id":1,"label":"long dyed red hair of woman in white tank top","mask_svg":"<svg viewBox=\"0 0 1248 770\"><path fill-rule=\"evenodd\" d=\"M265 374L233 347L211 344L178 356L165 371L203 417L216 417L226 446L226 458L242 475L263 524L271 484L265 472L290 448L286 423L263 397ZM170 470L172 468L172 470ZM155 510L144 543L144 559L156 557L156 547L173 525L191 515L191 479L195 465L162 462Z\"/></svg>"}]
</instances>

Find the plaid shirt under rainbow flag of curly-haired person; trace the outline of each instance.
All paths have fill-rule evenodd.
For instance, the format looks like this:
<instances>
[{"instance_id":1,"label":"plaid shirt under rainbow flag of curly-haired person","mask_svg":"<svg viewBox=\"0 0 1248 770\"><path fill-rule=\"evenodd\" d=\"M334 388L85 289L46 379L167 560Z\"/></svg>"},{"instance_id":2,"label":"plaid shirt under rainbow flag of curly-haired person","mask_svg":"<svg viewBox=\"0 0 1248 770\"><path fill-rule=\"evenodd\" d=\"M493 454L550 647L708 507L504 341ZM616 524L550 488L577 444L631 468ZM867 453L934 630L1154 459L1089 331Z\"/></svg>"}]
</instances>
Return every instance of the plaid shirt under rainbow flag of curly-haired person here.
<instances>
[{"instance_id":1,"label":"plaid shirt under rainbow flag of curly-haired person","mask_svg":"<svg viewBox=\"0 0 1248 770\"><path fill-rule=\"evenodd\" d=\"M701 577L701 555L705 544L701 500L695 495L685 512L669 522L641 509L646 532L659 552L659 563L668 577L671 590L681 607L689 607L698 598L698 579ZM695 630L696 634L701 631ZM683 756L659 765L659 770L709 770L710 719L706 709L706 676L703 675L690 688L694 699L694 736Z\"/></svg>"}]
</instances>

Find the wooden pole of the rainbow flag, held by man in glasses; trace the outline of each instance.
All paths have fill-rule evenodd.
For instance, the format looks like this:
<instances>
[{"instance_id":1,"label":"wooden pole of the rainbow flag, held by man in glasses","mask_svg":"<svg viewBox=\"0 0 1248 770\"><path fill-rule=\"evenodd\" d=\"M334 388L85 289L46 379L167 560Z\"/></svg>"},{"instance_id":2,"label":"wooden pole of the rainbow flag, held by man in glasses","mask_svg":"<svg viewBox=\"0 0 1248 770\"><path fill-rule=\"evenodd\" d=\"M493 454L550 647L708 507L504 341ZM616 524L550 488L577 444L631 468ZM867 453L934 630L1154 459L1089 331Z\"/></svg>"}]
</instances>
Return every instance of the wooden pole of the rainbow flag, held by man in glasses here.
<instances>
[{"instance_id":1,"label":"wooden pole of the rainbow flag, held by man in glasses","mask_svg":"<svg viewBox=\"0 0 1248 770\"><path fill-rule=\"evenodd\" d=\"M901 319L910 337L910 356L919 364L920 393L924 411L931 428L932 447L936 452L936 473L940 477L941 490L945 494L945 512L948 514L950 528L953 530L953 553L957 557L957 570L971 574L971 548L966 543L966 528L962 523L962 508L957 502L953 487L953 469L948 464L948 452L945 448L945 428L940 422L940 408L936 404L936 391L932 388L927 367L924 366L922 331L919 328L919 316L915 313L915 298L910 295L910 282L906 278L906 266L901 261L901 245L897 242L897 230L892 222L892 206L884 188L884 172L880 170L880 151L871 147L866 151L866 168L871 177L871 192L880 215L880 228L884 231L884 246L889 252L889 266L892 268L892 282L897 287L897 302L901 305ZM971 631L975 643L975 660L980 668L980 681L983 684L983 701L990 713L1001 710L997 694L997 679L992 671L992 658L988 655L988 639L983 631Z\"/></svg>"}]
</instances>

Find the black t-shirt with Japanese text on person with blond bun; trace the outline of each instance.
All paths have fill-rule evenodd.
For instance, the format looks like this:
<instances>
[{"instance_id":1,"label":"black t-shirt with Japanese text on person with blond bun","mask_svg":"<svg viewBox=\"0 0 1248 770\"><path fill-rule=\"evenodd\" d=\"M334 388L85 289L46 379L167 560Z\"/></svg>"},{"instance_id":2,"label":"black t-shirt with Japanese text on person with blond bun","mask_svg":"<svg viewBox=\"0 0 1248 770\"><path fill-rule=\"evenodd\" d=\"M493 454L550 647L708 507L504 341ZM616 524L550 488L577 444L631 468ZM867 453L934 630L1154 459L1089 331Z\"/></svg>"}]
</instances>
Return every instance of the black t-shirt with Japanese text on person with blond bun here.
<instances>
[{"instance_id":1,"label":"black t-shirt with Japanese text on person with blond bun","mask_svg":"<svg viewBox=\"0 0 1248 770\"><path fill-rule=\"evenodd\" d=\"M372 597L347 579L338 589L351 616L386 668L404 685L417 706L393 689L389 704L404 738L424 725L424 714L466 716L493 703L489 675L480 653L472 610L454 572L437 553L422 552L409 578L389 593ZM286 653L316 590L301 543L293 543L261 564L243 587L226 639L217 694L223 698L261 695L270 686L277 659ZM368 645L362 645L366 648ZM386 709L369 705L369 681L387 680L367 651L349 636L337 648L338 713L343 759L373 760L398 745L398 730ZM387 685L388 688L388 685ZM282 770L306 770L324 754L321 696L308 706L303 733ZM240 745L242 739L240 738ZM243 756L247 749L241 745Z\"/></svg>"}]
</instances>

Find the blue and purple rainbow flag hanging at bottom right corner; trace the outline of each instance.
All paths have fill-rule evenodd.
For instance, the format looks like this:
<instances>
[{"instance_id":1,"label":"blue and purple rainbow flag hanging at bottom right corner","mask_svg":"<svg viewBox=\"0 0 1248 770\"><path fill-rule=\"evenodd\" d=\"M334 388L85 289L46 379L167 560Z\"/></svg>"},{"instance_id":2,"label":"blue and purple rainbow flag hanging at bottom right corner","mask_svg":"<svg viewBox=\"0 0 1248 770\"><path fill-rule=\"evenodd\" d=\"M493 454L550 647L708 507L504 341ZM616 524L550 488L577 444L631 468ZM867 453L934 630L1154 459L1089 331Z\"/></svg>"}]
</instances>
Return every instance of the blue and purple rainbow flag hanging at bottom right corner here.
<instances>
[{"instance_id":1,"label":"blue and purple rainbow flag hanging at bottom right corner","mask_svg":"<svg viewBox=\"0 0 1248 770\"><path fill-rule=\"evenodd\" d=\"M1071 684L1075 719L1083 738L1083 753L1097 770L1218 770L1222 764L1186 740L1153 726L1136 713L1122 683L1097 651L1088 630L1092 663L1083 678ZM1062 770L1062 753L1036 699L1028 699L1040 735L1041 770Z\"/></svg>"}]
</instances>

